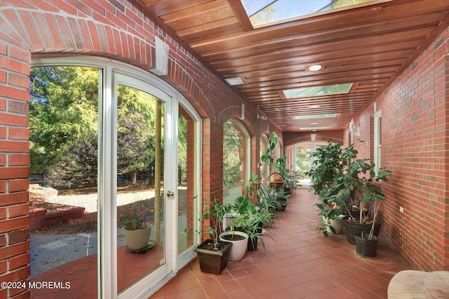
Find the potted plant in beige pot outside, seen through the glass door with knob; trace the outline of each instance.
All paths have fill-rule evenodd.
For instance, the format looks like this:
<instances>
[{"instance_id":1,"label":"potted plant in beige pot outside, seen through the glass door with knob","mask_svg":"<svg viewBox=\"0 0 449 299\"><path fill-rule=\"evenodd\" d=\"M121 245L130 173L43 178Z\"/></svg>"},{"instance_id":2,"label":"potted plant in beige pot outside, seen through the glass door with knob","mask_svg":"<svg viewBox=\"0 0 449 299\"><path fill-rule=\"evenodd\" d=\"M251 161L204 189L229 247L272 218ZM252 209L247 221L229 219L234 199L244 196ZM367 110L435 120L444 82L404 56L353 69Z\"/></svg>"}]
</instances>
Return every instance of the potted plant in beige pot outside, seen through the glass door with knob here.
<instances>
[{"instance_id":1,"label":"potted plant in beige pot outside, seen through the glass door with knob","mask_svg":"<svg viewBox=\"0 0 449 299\"><path fill-rule=\"evenodd\" d=\"M149 249L149 236L152 232L151 223L145 221L145 209L141 207L133 214L123 216L123 234L128 251L140 252Z\"/></svg>"}]
</instances>

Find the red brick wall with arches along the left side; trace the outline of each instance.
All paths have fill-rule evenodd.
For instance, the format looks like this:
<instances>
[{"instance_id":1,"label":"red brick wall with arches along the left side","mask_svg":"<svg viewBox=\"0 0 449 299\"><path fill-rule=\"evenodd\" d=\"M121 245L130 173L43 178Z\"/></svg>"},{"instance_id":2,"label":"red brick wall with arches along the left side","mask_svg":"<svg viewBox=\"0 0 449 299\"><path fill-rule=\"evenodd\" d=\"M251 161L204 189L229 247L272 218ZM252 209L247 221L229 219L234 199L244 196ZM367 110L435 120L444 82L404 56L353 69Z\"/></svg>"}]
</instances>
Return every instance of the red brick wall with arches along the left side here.
<instances>
[{"instance_id":1,"label":"red brick wall with arches along the left side","mask_svg":"<svg viewBox=\"0 0 449 299\"><path fill-rule=\"evenodd\" d=\"M153 69L154 36L169 46L168 75L173 85L194 106L203 121L203 200L222 198L222 124L241 117L245 104L246 125L252 138L267 128L257 120L255 106L244 102L229 86L209 71L194 55L138 8L126 0L98 1L1 1L0 23L0 280L27 279L27 237L11 238L29 228L27 211L11 214L28 200L29 132L28 86L32 55L93 55ZM261 125L263 122L263 125ZM262 128L263 127L263 128ZM253 142L258 153L258 142ZM252 158L252 161L255 161ZM13 242L12 242L13 241ZM0 291L0 297L13 296Z\"/></svg>"}]
</instances>

